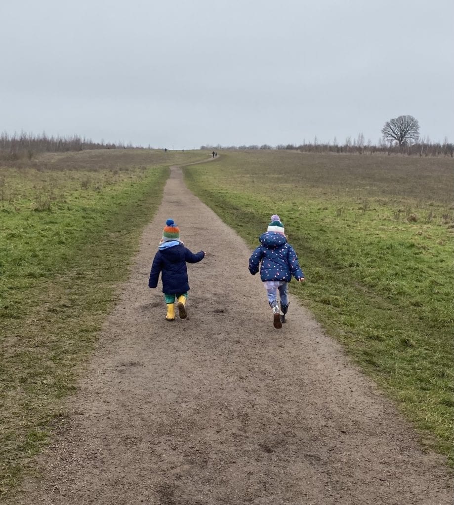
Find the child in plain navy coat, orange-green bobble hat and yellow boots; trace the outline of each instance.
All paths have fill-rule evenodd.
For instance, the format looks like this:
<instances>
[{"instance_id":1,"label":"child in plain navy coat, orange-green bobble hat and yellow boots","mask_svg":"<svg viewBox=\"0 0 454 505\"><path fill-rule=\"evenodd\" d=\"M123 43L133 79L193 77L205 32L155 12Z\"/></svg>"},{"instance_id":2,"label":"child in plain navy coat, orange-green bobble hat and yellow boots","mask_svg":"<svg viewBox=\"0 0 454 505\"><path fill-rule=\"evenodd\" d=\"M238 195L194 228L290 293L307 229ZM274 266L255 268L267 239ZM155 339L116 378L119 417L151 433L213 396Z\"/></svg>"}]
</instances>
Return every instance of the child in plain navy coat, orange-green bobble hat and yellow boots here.
<instances>
[{"instance_id":1,"label":"child in plain navy coat, orange-green bobble hat and yellow boots","mask_svg":"<svg viewBox=\"0 0 454 505\"><path fill-rule=\"evenodd\" d=\"M178 312L181 319L186 319L186 300L189 281L186 263L198 263L205 256L204 251L196 254L184 246L180 240L180 228L173 219L166 221L162 238L151 266L148 287L157 287L159 274L162 280L162 292L167 304L167 321L175 321L175 298L178 301Z\"/></svg>"}]
</instances>

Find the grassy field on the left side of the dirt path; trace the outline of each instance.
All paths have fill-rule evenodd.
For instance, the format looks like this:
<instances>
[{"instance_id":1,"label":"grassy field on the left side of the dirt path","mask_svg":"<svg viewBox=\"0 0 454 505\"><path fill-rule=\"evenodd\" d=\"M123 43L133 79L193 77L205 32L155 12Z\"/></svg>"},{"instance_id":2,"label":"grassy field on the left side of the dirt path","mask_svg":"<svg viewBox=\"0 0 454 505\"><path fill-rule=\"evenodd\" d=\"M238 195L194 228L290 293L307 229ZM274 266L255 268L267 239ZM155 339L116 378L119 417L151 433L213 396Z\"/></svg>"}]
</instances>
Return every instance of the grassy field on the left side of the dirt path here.
<instances>
[{"instance_id":1,"label":"grassy field on the left side of the dirt path","mask_svg":"<svg viewBox=\"0 0 454 505\"><path fill-rule=\"evenodd\" d=\"M128 275L169 165L204 156L96 150L0 167L0 497L62 423L61 398Z\"/></svg>"}]
</instances>

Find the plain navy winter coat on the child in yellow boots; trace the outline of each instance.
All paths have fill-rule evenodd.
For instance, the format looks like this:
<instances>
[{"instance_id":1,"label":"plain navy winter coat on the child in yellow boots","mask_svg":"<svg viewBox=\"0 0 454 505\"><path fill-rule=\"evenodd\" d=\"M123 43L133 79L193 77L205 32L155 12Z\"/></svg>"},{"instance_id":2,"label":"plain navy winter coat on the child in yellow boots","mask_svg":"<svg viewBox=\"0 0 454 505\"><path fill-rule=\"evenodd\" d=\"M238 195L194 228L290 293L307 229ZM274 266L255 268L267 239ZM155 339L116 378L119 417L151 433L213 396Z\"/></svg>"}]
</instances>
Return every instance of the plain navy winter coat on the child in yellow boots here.
<instances>
[{"instance_id":1,"label":"plain navy winter coat on the child in yellow boots","mask_svg":"<svg viewBox=\"0 0 454 505\"><path fill-rule=\"evenodd\" d=\"M189 291L188 271L186 263L198 263L203 260L203 251L194 254L182 243L178 242L170 247L159 247L151 266L148 287L157 287L159 274L162 280L162 292L180 294Z\"/></svg>"}]
</instances>

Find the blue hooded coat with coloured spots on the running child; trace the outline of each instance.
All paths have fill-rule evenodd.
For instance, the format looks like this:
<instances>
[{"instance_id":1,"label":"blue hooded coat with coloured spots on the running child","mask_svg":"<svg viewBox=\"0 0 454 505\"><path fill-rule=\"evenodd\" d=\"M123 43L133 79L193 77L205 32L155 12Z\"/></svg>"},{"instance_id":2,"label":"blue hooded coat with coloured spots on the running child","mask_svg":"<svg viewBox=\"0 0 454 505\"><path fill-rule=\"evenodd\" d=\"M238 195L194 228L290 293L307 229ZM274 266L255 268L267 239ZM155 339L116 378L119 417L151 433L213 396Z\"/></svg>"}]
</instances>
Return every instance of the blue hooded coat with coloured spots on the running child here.
<instances>
[{"instance_id":1,"label":"blue hooded coat with coloured spots on the running child","mask_svg":"<svg viewBox=\"0 0 454 505\"><path fill-rule=\"evenodd\" d=\"M287 242L285 235L267 231L259 237L260 244L249 259L249 271L255 275L259 271L262 281L285 281L304 277L298 263L295 249ZM260 264L261 263L261 264Z\"/></svg>"}]
</instances>

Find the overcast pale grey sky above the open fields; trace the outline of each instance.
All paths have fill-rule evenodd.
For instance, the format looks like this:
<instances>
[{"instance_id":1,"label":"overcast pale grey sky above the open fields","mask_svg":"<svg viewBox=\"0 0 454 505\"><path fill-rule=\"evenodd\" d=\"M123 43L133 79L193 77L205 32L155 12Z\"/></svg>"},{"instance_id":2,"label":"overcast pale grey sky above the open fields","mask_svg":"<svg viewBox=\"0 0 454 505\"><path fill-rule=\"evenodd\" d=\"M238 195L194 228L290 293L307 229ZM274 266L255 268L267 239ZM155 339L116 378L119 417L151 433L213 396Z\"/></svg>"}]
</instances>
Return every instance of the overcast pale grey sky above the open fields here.
<instances>
[{"instance_id":1,"label":"overcast pale grey sky above the open fields","mask_svg":"<svg viewBox=\"0 0 454 505\"><path fill-rule=\"evenodd\" d=\"M454 141L453 0L0 0L0 130L175 149Z\"/></svg>"}]
</instances>

